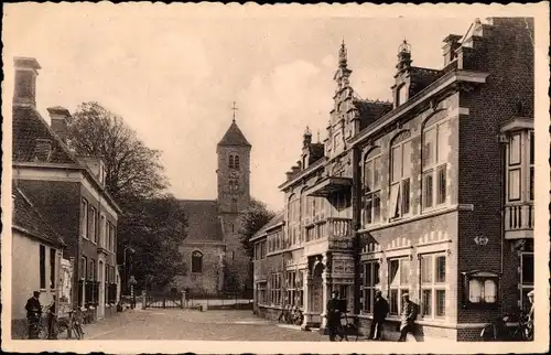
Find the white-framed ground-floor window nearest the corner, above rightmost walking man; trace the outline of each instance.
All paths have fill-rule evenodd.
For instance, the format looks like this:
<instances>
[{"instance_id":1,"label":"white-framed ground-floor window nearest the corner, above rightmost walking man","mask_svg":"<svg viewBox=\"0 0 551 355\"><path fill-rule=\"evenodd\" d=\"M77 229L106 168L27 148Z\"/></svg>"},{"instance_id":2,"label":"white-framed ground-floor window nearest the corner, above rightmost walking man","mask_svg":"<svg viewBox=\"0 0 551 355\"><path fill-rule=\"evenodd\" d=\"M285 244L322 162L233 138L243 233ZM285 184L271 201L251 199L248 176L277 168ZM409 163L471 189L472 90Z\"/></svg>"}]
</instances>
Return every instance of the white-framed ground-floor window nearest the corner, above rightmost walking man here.
<instances>
[{"instance_id":1,"label":"white-framed ground-floor window nearest the corner, above rightmost walking man","mask_svg":"<svg viewBox=\"0 0 551 355\"><path fill-rule=\"evenodd\" d=\"M437 263L436 260L437 258L444 258L444 280L443 281L436 281L436 275L437 275ZM429 267L431 269L431 277L428 282L423 280L423 273L424 273L424 263L423 260L429 260ZM437 319L444 319L446 316L446 301L449 297L449 291L446 287L446 280L449 278L447 276L447 255L446 252L430 252L430 254L420 254L419 255L419 272L420 272L420 306L421 306L421 312L420 315L425 319L425 320L437 320ZM425 309L424 309L424 291L431 291L431 299L430 299L430 312L425 314ZM444 304L443 304L443 313L437 314L436 313L436 308L437 308L437 297L436 292L437 291L443 291L444 292Z\"/></svg>"}]
</instances>

